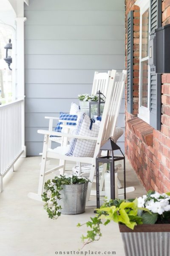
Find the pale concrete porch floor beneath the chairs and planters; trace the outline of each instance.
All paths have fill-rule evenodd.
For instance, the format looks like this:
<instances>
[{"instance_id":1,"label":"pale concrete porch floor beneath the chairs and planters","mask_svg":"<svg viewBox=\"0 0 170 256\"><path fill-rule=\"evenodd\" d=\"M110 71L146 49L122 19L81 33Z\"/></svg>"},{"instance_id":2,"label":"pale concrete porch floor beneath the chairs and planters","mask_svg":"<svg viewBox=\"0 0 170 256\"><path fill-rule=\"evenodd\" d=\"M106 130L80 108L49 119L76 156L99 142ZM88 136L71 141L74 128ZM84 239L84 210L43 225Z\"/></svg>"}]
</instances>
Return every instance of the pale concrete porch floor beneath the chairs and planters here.
<instances>
[{"instance_id":1,"label":"pale concrete porch floor beneath the chairs and planters","mask_svg":"<svg viewBox=\"0 0 170 256\"><path fill-rule=\"evenodd\" d=\"M15 172L9 172L4 179L4 191L0 193L0 256L125 256L119 227L115 223L102 227L100 241L79 251L82 247L80 237L86 234L87 228L78 228L77 223L85 223L94 216L94 207L86 207L85 213L80 215L61 215L57 220L51 220L42 202L27 197L28 192L37 192L40 160L41 157L18 160ZM121 170L119 172L122 180ZM127 198L146 193L127 160L126 180L127 186L136 188L127 194Z\"/></svg>"}]
</instances>

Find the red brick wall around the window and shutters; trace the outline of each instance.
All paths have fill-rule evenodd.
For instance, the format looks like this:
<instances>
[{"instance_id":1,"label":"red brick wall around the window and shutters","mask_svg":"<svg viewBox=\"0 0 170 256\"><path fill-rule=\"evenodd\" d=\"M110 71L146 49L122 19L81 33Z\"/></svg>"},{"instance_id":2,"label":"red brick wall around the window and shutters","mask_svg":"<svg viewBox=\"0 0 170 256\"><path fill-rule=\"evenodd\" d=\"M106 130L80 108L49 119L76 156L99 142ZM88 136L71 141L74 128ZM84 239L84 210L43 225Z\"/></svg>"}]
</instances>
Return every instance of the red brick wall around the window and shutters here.
<instances>
[{"instance_id":1,"label":"red brick wall around the window and shutters","mask_svg":"<svg viewBox=\"0 0 170 256\"><path fill-rule=\"evenodd\" d=\"M147 146L129 128L127 120L136 117L139 99L139 7L136 0L125 0L126 38L125 55L127 56L127 14L133 12L133 115L126 111L125 152L136 170L144 187L158 192L170 191L170 74L161 77L161 131L153 130L153 146ZM170 23L170 0L162 1L162 25ZM127 66L127 57L126 57ZM125 90L127 99L127 90ZM126 102L125 102L126 106Z\"/></svg>"}]
</instances>

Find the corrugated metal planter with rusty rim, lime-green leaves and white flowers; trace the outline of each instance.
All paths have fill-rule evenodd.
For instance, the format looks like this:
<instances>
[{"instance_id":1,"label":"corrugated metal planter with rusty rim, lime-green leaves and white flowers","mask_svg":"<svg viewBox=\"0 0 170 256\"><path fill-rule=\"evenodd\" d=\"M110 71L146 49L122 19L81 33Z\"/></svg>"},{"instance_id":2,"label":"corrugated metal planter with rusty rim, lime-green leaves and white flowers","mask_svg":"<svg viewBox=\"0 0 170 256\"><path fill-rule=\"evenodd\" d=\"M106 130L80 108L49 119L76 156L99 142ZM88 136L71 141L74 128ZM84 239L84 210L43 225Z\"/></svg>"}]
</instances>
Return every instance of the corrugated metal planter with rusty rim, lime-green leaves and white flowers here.
<instances>
[{"instance_id":1,"label":"corrugated metal planter with rusty rim, lime-green leaves and white flowers","mask_svg":"<svg viewBox=\"0 0 170 256\"><path fill-rule=\"evenodd\" d=\"M85 223L91 230L82 241L88 244L99 240L100 225L111 221L119 223L126 256L155 256L156 252L170 255L170 192L149 191L136 199L105 201L96 216Z\"/></svg>"}]
</instances>

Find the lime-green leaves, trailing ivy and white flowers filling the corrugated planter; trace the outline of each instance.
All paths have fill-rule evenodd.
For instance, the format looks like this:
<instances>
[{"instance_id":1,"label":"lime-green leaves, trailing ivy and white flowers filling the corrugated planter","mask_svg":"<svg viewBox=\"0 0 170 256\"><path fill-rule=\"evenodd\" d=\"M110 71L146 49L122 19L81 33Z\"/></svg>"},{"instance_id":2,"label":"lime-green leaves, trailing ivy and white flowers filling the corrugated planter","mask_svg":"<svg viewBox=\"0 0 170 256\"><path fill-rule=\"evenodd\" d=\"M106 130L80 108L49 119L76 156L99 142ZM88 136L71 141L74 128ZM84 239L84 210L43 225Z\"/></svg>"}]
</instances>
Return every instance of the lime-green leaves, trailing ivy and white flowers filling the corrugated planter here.
<instances>
[{"instance_id":1,"label":"lime-green leaves, trailing ivy and white flowers filling the corrugated planter","mask_svg":"<svg viewBox=\"0 0 170 256\"><path fill-rule=\"evenodd\" d=\"M159 194L150 190L147 195L136 199L105 201L105 204L97 209L95 218L86 222L91 230L87 236L82 236L85 244L99 240L102 236L100 224L107 225L110 221L126 225L132 230L137 224L170 223L170 192ZM78 227L80 226L81 224L78 224Z\"/></svg>"}]
</instances>

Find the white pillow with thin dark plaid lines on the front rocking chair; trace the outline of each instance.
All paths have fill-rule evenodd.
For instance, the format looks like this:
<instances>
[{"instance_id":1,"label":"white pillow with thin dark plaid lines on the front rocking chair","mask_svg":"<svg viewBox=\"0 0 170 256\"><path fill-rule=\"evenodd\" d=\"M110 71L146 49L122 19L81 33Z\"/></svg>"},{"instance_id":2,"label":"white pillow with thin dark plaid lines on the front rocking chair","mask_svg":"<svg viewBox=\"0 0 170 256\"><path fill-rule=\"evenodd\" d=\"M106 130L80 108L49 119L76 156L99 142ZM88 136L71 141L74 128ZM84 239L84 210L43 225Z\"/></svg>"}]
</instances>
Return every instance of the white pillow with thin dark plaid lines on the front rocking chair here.
<instances>
[{"instance_id":1,"label":"white pillow with thin dark plaid lines on the front rocking chair","mask_svg":"<svg viewBox=\"0 0 170 256\"><path fill-rule=\"evenodd\" d=\"M91 130L90 130L91 127ZM99 127L93 123L91 126L91 119L86 113L82 113L75 134L82 136L97 137L99 133ZM96 141L94 140L79 140L77 138L71 139L70 147L67 156L74 157L93 157L96 147Z\"/></svg>"}]
</instances>

